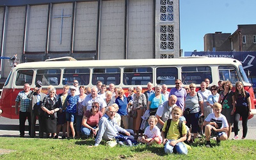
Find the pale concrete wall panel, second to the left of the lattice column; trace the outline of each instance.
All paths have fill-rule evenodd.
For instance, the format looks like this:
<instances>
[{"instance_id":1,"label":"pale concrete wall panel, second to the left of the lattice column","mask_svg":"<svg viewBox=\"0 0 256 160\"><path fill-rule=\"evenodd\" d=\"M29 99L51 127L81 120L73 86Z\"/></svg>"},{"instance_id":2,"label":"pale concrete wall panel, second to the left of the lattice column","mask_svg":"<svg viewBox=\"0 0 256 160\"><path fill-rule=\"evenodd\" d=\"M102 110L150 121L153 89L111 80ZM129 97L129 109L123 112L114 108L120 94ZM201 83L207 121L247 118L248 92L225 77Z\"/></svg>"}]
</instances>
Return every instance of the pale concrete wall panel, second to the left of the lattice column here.
<instances>
[{"instance_id":1,"label":"pale concrete wall panel, second to the left of the lattice column","mask_svg":"<svg viewBox=\"0 0 256 160\"><path fill-rule=\"evenodd\" d=\"M100 60L124 59L124 1L102 1Z\"/></svg>"}]
</instances>

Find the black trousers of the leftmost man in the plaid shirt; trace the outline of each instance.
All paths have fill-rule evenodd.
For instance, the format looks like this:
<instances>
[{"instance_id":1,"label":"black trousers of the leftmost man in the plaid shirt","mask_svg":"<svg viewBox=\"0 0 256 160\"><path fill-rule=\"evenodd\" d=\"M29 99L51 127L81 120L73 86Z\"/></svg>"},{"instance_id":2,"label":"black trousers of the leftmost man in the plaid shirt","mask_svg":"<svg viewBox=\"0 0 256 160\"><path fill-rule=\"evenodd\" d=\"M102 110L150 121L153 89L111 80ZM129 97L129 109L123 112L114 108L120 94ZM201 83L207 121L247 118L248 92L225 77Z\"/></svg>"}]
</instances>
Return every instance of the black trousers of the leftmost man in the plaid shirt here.
<instances>
[{"instance_id":1,"label":"black trousers of the leftmost man in the plaid shirt","mask_svg":"<svg viewBox=\"0 0 256 160\"><path fill-rule=\"evenodd\" d=\"M22 112L19 111L19 129L20 129L20 136L24 136L25 134L25 122L28 118L28 131L29 135L31 135L31 115L30 112Z\"/></svg>"}]
</instances>

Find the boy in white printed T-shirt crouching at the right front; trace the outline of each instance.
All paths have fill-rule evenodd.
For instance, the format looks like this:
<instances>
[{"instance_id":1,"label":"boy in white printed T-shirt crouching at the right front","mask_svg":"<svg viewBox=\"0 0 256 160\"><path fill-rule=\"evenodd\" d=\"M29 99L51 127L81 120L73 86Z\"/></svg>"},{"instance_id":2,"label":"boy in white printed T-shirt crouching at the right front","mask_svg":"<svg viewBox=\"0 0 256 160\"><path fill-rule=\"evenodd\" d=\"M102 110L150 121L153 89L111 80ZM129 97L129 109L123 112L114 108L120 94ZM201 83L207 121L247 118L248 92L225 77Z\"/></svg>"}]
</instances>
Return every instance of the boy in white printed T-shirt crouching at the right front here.
<instances>
[{"instance_id":1,"label":"boy in white printed T-shirt crouching at the right front","mask_svg":"<svg viewBox=\"0 0 256 160\"><path fill-rule=\"evenodd\" d=\"M206 138L206 147L212 147L211 145L211 135L217 136L216 141L227 140L227 131L228 131L228 122L227 118L221 114L221 104L216 102L212 106L213 113L210 113L204 120L205 125L205 138Z\"/></svg>"}]
</instances>

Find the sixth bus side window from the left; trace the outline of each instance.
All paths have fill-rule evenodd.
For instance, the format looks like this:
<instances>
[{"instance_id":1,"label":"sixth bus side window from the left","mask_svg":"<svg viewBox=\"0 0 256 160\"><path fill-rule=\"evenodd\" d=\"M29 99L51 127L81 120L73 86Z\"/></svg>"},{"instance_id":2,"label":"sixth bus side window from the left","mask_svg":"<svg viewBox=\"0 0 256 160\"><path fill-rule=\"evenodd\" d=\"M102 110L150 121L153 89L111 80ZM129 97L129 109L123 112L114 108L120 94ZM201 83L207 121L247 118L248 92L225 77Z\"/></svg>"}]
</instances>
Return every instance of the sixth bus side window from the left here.
<instances>
[{"instance_id":1,"label":"sixth bus side window from the left","mask_svg":"<svg viewBox=\"0 0 256 160\"><path fill-rule=\"evenodd\" d=\"M157 84L175 84L178 77L178 69L176 67L158 67L156 69Z\"/></svg>"}]
</instances>

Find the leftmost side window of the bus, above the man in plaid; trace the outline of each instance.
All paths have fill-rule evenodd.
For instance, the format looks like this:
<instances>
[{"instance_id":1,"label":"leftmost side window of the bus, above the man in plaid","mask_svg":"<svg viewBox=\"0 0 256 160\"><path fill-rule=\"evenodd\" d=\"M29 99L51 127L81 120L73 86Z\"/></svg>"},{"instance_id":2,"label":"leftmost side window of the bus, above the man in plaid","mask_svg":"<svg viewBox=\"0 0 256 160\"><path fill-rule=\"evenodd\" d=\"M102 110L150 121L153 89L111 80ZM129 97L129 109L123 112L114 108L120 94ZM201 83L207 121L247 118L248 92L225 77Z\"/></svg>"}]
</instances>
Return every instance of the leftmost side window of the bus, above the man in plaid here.
<instances>
[{"instance_id":1,"label":"leftmost side window of the bus, above the man in plaid","mask_svg":"<svg viewBox=\"0 0 256 160\"><path fill-rule=\"evenodd\" d=\"M18 70L15 79L16 86L23 86L25 83L32 84L33 70Z\"/></svg>"}]
</instances>

